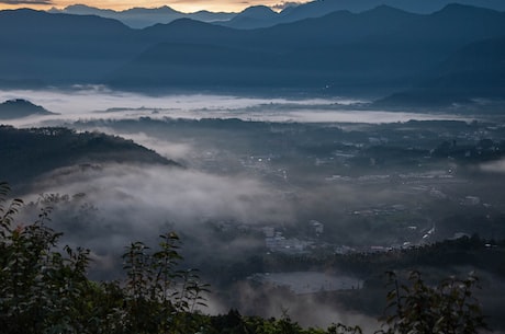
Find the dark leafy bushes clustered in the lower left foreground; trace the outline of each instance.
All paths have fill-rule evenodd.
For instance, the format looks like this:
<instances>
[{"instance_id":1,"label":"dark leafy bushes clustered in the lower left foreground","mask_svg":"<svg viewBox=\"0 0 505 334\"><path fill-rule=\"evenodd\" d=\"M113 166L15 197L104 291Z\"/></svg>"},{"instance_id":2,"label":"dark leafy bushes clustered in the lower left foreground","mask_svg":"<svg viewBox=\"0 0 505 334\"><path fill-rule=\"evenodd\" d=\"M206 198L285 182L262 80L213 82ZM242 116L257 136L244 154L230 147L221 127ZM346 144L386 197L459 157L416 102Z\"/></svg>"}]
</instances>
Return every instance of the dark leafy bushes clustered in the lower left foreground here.
<instances>
[{"instance_id":1,"label":"dark leafy bushes clustered in the lower left foreground","mask_svg":"<svg viewBox=\"0 0 505 334\"><path fill-rule=\"evenodd\" d=\"M0 183L0 327L4 334L32 333L190 333L202 318L207 285L193 269L177 268L179 238L160 235L152 252L133 242L123 255L124 283L90 281L89 250L60 247L61 233L37 221L15 222L21 199L7 204L9 185Z\"/></svg>"}]
</instances>

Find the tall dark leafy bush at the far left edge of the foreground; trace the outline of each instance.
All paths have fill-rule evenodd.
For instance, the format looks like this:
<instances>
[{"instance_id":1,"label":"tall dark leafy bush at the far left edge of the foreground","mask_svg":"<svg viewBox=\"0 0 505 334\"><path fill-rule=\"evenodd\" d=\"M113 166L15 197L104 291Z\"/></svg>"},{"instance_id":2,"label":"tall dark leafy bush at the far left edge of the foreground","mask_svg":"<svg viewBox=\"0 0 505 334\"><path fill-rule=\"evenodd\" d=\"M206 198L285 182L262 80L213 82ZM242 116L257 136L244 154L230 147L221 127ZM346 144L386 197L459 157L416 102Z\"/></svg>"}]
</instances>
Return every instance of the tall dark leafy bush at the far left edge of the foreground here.
<instances>
[{"instance_id":1,"label":"tall dark leafy bush at the far left edge of the foreground","mask_svg":"<svg viewBox=\"0 0 505 334\"><path fill-rule=\"evenodd\" d=\"M63 252L60 233L46 226L44 209L31 224L15 224L23 201L4 206L9 186L0 183L0 327L2 333L83 333L89 251Z\"/></svg>"}]
</instances>

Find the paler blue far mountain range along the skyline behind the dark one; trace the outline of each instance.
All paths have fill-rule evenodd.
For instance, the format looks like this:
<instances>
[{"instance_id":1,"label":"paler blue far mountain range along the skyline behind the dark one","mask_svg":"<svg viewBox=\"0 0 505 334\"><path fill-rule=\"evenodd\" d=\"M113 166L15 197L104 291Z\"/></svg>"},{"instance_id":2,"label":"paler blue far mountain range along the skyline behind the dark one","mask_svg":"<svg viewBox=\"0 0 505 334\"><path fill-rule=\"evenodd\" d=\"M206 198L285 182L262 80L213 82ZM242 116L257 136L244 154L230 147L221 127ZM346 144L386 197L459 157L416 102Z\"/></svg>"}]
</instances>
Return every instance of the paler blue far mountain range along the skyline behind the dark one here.
<instances>
[{"instance_id":1,"label":"paler blue far mountain range along the skyline behind the dark one","mask_svg":"<svg viewBox=\"0 0 505 334\"><path fill-rule=\"evenodd\" d=\"M505 11L505 2L502 0L316 0L300 4L293 2L281 12L276 12L266 5L249 7L239 13L209 11L183 13L167 5L152 9L133 8L124 11L113 11L86 4L72 4L64 9L52 8L49 12L114 19L134 28L144 28L157 23L170 23L184 18L235 28L258 28L308 18L321 18L335 11L359 13L379 5L389 5L412 13L429 14L441 10L450 3Z\"/></svg>"}]
</instances>

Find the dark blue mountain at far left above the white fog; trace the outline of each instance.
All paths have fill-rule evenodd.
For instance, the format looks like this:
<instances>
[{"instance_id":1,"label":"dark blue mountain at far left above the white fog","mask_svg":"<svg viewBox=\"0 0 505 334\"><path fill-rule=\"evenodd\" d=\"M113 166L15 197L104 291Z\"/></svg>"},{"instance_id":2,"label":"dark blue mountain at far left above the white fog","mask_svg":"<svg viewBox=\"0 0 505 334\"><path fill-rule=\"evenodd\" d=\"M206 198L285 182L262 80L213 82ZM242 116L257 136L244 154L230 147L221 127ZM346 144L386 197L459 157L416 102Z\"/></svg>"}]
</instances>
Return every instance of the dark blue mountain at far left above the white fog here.
<instances>
[{"instance_id":1,"label":"dark blue mountain at far left above the white fog","mask_svg":"<svg viewBox=\"0 0 505 334\"><path fill-rule=\"evenodd\" d=\"M142 47L132 45L132 32L119 21L93 15L0 11L1 83L96 82Z\"/></svg>"}]
</instances>

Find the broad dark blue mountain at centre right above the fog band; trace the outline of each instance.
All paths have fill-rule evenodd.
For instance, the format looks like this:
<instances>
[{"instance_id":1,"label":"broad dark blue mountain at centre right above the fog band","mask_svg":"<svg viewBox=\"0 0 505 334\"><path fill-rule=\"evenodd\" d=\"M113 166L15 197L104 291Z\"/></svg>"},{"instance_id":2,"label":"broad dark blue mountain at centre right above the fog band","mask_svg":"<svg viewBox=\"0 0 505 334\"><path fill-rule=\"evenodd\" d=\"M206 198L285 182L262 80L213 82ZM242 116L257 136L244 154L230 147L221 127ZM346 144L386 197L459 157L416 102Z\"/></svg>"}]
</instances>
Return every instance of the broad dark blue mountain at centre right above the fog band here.
<instances>
[{"instance_id":1,"label":"broad dark blue mountain at centre right above the fog band","mask_svg":"<svg viewBox=\"0 0 505 334\"><path fill-rule=\"evenodd\" d=\"M192 21L149 31L155 28L158 36L167 36L165 42L114 72L112 85L382 93L411 85L419 71L465 44L505 35L505 14L449 5L419 15L379 7L263 30L226 30Z\"/></svg>"}]
</instances>

